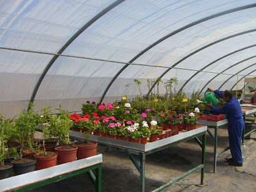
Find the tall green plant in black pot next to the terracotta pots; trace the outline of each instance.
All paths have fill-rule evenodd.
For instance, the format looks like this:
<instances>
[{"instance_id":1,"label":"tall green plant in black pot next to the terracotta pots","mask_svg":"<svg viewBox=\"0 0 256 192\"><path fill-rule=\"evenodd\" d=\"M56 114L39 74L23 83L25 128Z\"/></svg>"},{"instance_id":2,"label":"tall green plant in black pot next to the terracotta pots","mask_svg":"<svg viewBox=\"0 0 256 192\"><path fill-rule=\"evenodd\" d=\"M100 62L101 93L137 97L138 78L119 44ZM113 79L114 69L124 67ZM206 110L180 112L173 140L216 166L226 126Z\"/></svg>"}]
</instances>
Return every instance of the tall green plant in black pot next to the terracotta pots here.
<instances>
[{"instance_id":1,"label":"tall green plant in black pot next to the terracotta pots","mask_svg":"<svg viewBox=\"0 0 256 192\"><path fill-rule=\"evenodd\" d=\"M24 151L33 146L36 126L38 125L39 115L33 110L33 105L29 105L28 110L23 110L19 118L14 120L15 129L18 131L18 142L21 144L19 159L11 161L14 168L14 175L35 171L35 158L23 158Z\"/></svg>"}]
</instances>

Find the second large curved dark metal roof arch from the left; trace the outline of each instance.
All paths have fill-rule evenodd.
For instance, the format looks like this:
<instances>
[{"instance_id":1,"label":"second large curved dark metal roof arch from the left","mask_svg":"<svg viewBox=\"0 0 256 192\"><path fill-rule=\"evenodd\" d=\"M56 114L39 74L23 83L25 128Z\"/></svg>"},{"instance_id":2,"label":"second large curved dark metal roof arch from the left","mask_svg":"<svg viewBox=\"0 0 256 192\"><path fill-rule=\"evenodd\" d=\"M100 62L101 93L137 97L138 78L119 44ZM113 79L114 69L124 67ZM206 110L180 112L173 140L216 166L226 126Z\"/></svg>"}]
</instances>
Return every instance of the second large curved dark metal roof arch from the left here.
<instances>
[{"instance_id":1,"label":"second large curved dark metal roof arch from the left","mask_svg":"<svg viewBox=\"0 0 256 192\"><path fill-rule=\"evenodd\" d=\"M132 58L131 61L129 61L128 63L132 63L133 61L135 61L137 58L139 58L139 56L143 55L144 53L146 53L146 51L150 50L152 47L156 46L157 44L161 43L162 41L166 40L167 38L175 35L176 33L179 33L181 31L183 31L184 29L187 29L191 26L194 26L196 24L199 24L199 23L202 23L204 21L207 21L207 20L210 20L210 19L213 19L213 18L216 18L218 16L222 16L224 14L228 14L228 13L233 13L233 12L236 12L236 11L241 11L243 9L249 9L249 8L254 8L256 7L256 4L249 4L247 6L242 6L242 7L239 7L239 8L235 8L235 9L230 9L230 10L227 10L227 11L223 11L221 13L217 13L217 14L213 14L211 16L208 16L206 18L203 18L203 19L199 19L198 21L195 21L193 23L190 23L182 28L179 28L177 29L176 31L173 31L172 33L169 33L169 35L166 35L164 36L163 38L161 38L160 40L157 40L155 43L153 43L152 45L148 46L146 49L144 49L143 51L141 51L141 53L139 53L138 55L136 55L134 58ZM111 87L112 83L114 83L115 79L120 75L120 73L122 73L125 68L127 68L129 66L129 64L126 64L124 67L122 67L119 72L117 72L117 74L115 75L115 77L112 78L112 80L110 81L109 85L107 86L107 88L105 89L104 93L102 94L102 98L100 99L100 103L102 102L102 100L104 99L107 91L109 90L109 88ZM153 66L152 66L153 67ZM171 68L169 68L168 70L166 70L166 72L164 72L161 76L163 77ZM156 82L152 85L151 89L149 90L149 93L152 91L152 88L154 88L154 86L156 85ZM148 93L148 94L149 94Z\"/></svg>"}]
</instances>

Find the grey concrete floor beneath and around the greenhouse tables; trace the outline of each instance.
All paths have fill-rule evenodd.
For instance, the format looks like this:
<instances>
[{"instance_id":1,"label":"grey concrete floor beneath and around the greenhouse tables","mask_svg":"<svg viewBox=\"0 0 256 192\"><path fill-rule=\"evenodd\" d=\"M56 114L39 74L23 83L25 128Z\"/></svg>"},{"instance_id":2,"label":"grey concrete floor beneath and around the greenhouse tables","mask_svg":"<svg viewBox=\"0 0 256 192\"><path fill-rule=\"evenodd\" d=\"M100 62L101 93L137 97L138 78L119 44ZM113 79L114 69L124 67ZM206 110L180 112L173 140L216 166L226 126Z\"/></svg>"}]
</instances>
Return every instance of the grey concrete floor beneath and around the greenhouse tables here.
<instances>
[{"instance_id":1,"label":"grey concrete floor beneath and around the greenhouse tables","mask_svg":"<svg viewBox=\"0 0 256 192\"><path fill-rule=\"evenodd\" d=\"M255 125L253 125L255 126ZM213 131L214 129L210 129ZM178 181L164 191L256 191L256 133L245 140L247 157L243 167L229 166L224 160L230 151L217 158L216 173L213 173L213 139L206 134L205 186L200 184L201 171ZM218 129L218 151L228 146L227 127ZM105 152L103 154L102 191L139 191L139 172L125 152ZM146 188L152 191L180 176L201 162L201 147L195 140L186 141L168 149L146 156ZM95 191L87 173L48 184L31 191Z\"/></svg>"}]
</instances>

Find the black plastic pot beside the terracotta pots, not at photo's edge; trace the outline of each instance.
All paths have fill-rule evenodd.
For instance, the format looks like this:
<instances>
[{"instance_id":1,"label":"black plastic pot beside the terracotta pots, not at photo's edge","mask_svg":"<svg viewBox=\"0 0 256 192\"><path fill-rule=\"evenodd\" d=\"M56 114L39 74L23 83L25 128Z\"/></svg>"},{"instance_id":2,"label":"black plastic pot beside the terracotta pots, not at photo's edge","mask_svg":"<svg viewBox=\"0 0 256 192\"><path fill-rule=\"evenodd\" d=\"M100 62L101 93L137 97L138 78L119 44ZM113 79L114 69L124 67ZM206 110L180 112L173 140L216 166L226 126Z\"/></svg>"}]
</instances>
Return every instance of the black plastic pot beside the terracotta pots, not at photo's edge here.
<instances>
[{"instance_id":1,"label":"black plastic pot beside the terracotta pots, not at photo's edge","mask_svg":"<svg viewBox=\"0 0 256 192\"><path fill-rule=\"evenodd\" d=\"M14 176L35 171L36 159L35 158L23 158L23 159L33 159L33 161L28 163L18 163L17 161L19 161L19 159L14 159L13 161L11 161L11 164L13 164Z\"/></svg>"}]
</instances>

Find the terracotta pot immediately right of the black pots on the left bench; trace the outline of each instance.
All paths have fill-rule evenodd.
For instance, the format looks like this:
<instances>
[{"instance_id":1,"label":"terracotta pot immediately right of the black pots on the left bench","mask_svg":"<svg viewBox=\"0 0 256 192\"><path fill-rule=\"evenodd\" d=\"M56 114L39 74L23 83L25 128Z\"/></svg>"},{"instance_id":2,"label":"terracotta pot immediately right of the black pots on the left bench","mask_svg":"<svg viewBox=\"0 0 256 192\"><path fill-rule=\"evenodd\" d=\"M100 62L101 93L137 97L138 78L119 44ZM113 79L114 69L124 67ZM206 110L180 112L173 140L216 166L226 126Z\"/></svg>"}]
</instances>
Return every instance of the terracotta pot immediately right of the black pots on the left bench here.
<instances>
[{"instance_id":1,"label":"terracotta pot immediately right of the black pots on the left bench","mask_svg":"<svg viewBox=\"0 0 256 192\"><path fill-rule=\"evenodd\" d=\"M46 151L46 156L43 156L40 153L38 153L35 154L34 157L36 158L36 170L40 170L56 166L58 153Z\"/></svg>"}]
</instances>

